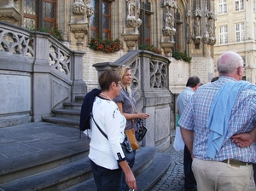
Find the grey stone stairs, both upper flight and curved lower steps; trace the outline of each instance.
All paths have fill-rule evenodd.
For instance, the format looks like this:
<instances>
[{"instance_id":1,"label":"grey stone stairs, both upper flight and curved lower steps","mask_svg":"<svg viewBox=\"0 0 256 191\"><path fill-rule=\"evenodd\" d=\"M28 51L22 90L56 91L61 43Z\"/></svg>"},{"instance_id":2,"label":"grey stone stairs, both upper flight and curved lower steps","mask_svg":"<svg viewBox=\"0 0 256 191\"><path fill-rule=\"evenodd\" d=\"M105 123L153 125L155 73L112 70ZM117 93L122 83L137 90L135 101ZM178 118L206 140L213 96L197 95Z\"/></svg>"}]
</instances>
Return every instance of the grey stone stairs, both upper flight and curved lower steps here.
<instances>
[{"instance_id":1,"label":"grey stone stairs, both upper flight and curved lower steps","mask_svg":"<svg viewBox=\"0 0 256 191\"><path fill-rule=\"evenodd\" d=\"M43 121L78 129L83 100L84 97L77 97L75 102L64 103L63 109L53 110L53 115ZM0 171L0 190L96 190L87 157L89 143L90 139L85 138L72 145L61 144L58 150L45 149L38 155L21 155L5 161L1 164L4 167ZM72 152L67 152L67 148ZM170 164L169 154L158 153L157 148L139 148L132 168L137 178L137 190L150 190Z\"/></svg>"}]
</instances>

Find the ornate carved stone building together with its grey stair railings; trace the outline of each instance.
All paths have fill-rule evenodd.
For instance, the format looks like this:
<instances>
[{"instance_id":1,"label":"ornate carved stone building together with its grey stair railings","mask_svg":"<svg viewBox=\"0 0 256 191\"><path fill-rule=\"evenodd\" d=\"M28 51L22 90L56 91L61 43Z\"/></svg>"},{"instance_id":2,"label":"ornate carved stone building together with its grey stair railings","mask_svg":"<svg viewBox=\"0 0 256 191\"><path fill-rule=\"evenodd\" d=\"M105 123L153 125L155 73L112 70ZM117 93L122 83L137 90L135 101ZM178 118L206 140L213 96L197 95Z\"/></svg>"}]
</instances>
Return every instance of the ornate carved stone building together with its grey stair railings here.
<instances>
[{"instance_id":1,"label":"ornate carved stone building together with its grey stair railings","mask_svg":"<svg viewBox=\"0 0 256 191\"><path fill-rule=\"evenodd\" d=\"M152 116L146 145L166 148L187 79L214 76L214 13L212 0L2 0L0 126L58 115L97 87L98 72L124 63L134 67L137 111ZM118 51L102 51L109 40L98 38L117 39Z\"/></svg>"}]
</instances>

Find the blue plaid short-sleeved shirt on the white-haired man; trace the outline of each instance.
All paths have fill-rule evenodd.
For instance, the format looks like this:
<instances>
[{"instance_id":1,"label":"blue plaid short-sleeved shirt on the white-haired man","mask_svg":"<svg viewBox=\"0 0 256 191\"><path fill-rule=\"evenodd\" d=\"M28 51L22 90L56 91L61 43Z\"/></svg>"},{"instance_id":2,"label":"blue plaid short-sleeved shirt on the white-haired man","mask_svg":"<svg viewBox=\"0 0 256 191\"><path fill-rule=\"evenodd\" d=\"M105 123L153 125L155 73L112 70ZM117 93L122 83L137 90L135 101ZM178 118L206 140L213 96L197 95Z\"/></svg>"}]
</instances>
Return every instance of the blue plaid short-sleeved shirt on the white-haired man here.
<instances>
[{"instance_id":1,"label":"blue plaid short-sleeved shirt on the white-haired man","mask_svg":"<svg viewBox=\"0 0 256 191\"><path fill-rule=\"evenodd\" d=\"M232 108L228 132L224 138L223 146L214 159L207 157L210 129L206 125L212 100L220 87L230 81L236 81L236 79L221 76L211 84L202 85L189 100L178 123L186 130L195 131L193 142L195 158L216 161L237 159L243 162L256 163L256 142L250 147L240 148L231 139L233 135L256 128L256 91L253 90L243 90L238 94L236 103Z\"/></svg>"}]
</instances>

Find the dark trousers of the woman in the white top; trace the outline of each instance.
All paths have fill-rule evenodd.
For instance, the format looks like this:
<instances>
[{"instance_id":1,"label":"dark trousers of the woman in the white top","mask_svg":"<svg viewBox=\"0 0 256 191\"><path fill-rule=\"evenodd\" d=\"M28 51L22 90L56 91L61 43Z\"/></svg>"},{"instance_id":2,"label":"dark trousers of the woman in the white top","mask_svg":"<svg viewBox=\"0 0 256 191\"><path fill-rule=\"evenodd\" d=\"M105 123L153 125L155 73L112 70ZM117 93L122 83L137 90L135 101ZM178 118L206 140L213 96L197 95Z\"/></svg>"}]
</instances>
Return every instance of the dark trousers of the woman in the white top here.
<instances>
[{"instance_id":1,"label":"dark trousers of the woman in the white top","mask_svg":"<svg viewBox=\"0 0 256 191\"><path fill-rule=\"evenodd\" d=\"M97 191L119 191L122 174L121 169L109 170L96 165L92 160L90 160L90 165Z\"/></svg>"}]
</instances>

